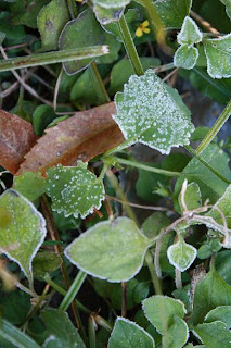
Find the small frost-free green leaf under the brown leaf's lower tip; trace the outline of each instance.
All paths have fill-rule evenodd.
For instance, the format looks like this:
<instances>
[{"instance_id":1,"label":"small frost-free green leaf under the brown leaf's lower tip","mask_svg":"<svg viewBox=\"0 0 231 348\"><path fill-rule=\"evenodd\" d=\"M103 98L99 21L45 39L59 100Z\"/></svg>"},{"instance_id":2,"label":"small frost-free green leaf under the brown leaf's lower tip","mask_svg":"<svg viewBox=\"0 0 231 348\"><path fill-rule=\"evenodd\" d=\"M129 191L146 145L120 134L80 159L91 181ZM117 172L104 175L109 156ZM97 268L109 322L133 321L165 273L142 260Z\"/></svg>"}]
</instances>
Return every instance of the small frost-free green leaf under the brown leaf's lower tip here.
<instances>
[{"instance_id":1,"label":"small frost-free green leaf under the brown leaf's lower tip","mask_svg":"<svg viewBox=\"0 0 231 348\"><path fill-rule=\"evenodd\" d=\"M39 172L25 172L14 177L13 187L28 200L34 201L44 194L46 181Z\"/></svg>"}]
</instances>

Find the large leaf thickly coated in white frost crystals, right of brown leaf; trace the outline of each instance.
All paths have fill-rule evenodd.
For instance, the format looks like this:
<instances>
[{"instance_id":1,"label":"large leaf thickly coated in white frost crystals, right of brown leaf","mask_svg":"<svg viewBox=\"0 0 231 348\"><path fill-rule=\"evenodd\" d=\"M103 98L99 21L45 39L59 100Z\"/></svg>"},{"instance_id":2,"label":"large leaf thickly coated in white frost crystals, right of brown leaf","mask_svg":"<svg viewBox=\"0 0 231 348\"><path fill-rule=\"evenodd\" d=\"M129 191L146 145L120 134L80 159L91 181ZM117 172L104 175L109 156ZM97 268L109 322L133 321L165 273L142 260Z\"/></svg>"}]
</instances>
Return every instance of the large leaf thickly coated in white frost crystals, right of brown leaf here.
<instances>
[{"instance_id":1,"label":"large leaf thickly coated in white frost crystals, right of brown leaf","mask_svg":"<svg viewBox=\"0 0 231 348\"><path fill-rule=\"evenodd\" d=\"M162 153L171 147L189 144L194 126L190 111L177 90L147 70L143 76L132 75L124 92L115 97L114 120L129 145L137 141Z\"/></svg>"}]
</instances>

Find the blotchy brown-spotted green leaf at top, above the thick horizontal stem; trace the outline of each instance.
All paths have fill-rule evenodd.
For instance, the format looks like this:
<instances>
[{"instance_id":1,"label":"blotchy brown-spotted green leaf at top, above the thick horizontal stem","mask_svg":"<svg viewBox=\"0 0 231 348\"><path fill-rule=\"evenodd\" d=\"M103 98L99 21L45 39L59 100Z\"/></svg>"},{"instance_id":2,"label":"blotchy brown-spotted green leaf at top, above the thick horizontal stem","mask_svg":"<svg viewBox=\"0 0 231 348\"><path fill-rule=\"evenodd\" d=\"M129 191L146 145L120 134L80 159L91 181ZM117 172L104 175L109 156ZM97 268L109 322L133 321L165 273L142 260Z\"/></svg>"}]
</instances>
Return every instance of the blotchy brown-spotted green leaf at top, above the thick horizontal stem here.
<instances>
[{"instance_id":1,"label":"blotchy brown-spotted green leaf at top, above the thick horizontal stem","mask_svg":"<svg viewBox=\"0 0 231 348\"><path fill-rule=\"evenodd\" d=\"M38 14L37 23L43 50L56 50L59 36L69 20L65 0L52 0Z\"/></svg>"}]
</instances>

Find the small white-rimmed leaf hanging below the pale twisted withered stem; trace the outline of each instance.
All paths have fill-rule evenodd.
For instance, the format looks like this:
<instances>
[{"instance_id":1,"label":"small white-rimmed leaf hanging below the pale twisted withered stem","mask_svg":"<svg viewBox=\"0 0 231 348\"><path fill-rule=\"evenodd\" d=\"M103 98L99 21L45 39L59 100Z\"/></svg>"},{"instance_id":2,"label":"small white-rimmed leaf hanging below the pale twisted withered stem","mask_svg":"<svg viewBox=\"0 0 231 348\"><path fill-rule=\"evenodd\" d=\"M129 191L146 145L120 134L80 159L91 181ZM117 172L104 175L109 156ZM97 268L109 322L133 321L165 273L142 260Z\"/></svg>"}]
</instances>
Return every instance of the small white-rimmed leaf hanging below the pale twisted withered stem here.
<instances>
[{"instance_id":1,"label":"small white-rimmed leaf hanging below the pale twisted withered stem","mask_svg":"<svg viewBox=\"0 0 231 348\"><path fill-rule=\"evenodd\" d=\"M180 238L167 250L169 262L181 272L188 270L196 258L197 250Z\"/></svg>"}]
</instances>

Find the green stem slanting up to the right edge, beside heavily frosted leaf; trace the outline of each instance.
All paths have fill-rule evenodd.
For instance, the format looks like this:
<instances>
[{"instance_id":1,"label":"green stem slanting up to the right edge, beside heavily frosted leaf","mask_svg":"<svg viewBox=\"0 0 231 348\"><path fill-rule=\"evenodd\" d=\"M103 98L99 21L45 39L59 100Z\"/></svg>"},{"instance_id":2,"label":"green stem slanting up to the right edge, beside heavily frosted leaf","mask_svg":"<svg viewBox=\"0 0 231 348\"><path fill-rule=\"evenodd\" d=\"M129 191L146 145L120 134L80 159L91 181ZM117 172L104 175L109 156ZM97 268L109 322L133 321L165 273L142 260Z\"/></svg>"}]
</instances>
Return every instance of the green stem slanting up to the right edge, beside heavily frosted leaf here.
<instances>
[{"instance_id":1,"label":"green stem slanting up to the right edge, beside heavily frosted leaf","mask_svg":"<svg viewBox=\"0 0 231 348\"><path fill-rule=\"evenodd\" d=\"M208 134L205 136L205 138L202 140L200 146L196 149L196 153L200 154L202 153L207 146L213 141L213 139L216 137L220 128L223 126L223 124L227 122L229 116L231 115L231 100L227 104L226 109L223 112L220 114L218 120L215 122Z\"/></svg>"}]
</instances>

